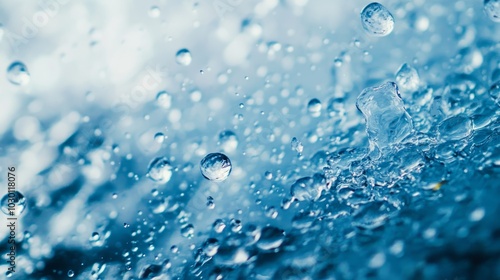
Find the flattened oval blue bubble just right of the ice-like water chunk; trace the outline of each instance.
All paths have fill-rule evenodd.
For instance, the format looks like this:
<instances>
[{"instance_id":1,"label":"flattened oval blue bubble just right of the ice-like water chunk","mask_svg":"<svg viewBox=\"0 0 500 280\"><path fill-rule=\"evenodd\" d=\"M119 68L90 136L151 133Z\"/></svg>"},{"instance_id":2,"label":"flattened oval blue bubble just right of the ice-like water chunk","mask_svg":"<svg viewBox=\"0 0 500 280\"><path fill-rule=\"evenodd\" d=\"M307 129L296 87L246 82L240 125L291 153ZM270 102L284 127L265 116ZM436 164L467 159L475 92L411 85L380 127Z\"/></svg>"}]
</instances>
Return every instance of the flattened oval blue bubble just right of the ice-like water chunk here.
<instances>
[{"instance_id":1,"label":"flattened oval blue bubble just right of the ice-like water chunk","mask_svg":"<svg viewBox=\"0 0 500 280\"><path fill-rule=\"evenodd\" d=\"M438 125L438 135L441 139L460 140L472 133L472 119L466 114L447 118Z\"/></svg>"}]
</instances>

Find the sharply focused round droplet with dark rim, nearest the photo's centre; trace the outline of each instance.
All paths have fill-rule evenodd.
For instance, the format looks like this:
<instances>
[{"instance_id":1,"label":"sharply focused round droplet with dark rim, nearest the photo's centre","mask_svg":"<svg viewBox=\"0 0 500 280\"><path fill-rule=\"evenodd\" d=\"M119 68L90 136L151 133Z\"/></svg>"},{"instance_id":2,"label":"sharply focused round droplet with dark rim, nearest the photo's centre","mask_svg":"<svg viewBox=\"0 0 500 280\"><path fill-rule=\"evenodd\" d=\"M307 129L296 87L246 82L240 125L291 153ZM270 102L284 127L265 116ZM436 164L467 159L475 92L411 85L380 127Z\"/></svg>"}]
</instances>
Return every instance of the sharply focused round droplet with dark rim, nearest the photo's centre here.
<instances>
[{"instance_id":1,"label":"sharply focused round droplet with dark rim, nearest the photo's centre","mask_svg":"<svg viewBox=\"0 0 500 280\"><path fill-rule=\"evenodd\" d=\"M203 177L210 181L222 182L231 174L231 161L221 153L206 155L200 162L200 170Z\"/></svg>"}]
</instances>

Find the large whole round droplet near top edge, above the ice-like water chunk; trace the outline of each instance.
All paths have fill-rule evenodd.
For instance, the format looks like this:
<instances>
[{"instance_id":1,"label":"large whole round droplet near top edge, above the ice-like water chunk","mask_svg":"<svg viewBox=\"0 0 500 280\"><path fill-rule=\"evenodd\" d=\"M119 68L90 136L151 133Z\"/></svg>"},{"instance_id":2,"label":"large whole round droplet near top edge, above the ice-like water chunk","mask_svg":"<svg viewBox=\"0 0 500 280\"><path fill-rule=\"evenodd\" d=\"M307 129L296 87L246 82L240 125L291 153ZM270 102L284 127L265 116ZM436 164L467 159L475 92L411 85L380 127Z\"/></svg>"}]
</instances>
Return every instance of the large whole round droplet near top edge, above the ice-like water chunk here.
<instances>
[{"instance_id":1,"label":"large whole round droplet near top edge, above the ice-like water chunk","mask_svg":"<svg viewBox=\"0 0 500 280\"><path fill-rule=\"evenodd\" d=\"M382 4L373 2L361 11L361 24L370 35L387 36L394 29L394 17Z\"/></svg>"}]
</instances>

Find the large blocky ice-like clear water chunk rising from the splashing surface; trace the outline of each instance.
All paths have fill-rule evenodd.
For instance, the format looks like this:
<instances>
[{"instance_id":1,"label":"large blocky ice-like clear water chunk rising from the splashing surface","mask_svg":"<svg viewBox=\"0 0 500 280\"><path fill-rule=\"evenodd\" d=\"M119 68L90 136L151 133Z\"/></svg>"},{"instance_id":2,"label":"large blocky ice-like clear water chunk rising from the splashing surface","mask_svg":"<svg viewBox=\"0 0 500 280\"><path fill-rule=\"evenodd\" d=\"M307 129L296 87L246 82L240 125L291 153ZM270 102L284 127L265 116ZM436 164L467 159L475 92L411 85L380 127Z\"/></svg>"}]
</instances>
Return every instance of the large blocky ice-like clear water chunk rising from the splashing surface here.
<instances>
[{"instance_id":1,"label":"large blocky ice-like clear water chunk rising from the splashing surface","mask_svg":"<svg viewBox=\"0 0 500 280\"><path fill-rule=\"evenodd\" d=\"M365 117L370 142L379 148L401 142L413 131L412 119L393 82L364 89L356 106Z\"/></svg>"}]
</instances>

